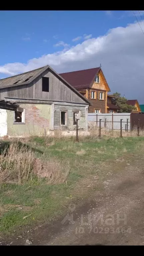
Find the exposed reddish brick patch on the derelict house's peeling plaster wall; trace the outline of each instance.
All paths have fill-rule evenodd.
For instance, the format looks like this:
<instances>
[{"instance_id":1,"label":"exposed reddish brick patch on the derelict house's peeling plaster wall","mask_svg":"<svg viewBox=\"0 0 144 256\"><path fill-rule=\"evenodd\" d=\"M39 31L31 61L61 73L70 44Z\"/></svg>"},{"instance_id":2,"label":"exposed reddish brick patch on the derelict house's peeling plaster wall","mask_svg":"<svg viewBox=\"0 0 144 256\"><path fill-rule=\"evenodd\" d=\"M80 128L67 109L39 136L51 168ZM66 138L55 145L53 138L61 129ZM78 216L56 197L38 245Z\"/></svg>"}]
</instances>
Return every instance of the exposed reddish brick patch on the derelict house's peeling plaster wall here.
<instances>
[{"instance_id":1,"label":"exposed reddish brick patch on the derelict house's peeling plaster wall","mask_svg":"<svg viewBox=\"0 0 144 256\"><path fill-rule=\"evenodd\" d=\"M41 116L41 110L36 106L26 108L25 123L31 123L39 127L49 127L49 120Z\"/></svg>"}]
</instances>

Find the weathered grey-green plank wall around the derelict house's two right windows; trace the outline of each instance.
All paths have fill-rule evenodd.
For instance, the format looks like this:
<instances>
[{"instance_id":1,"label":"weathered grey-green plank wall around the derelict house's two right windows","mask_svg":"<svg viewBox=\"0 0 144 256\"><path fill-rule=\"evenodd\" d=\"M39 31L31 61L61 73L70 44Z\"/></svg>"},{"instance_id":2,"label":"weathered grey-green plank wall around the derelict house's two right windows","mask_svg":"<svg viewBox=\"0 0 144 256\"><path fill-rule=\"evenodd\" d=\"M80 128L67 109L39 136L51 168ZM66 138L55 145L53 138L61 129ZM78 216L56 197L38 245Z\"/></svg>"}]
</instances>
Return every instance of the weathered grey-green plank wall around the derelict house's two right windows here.
<instances>
[{"instance_id":1,"label":"weathered grey-green plank wall around the derelict house's two right windows","mask_svg":"<svg viewBox=\"0 0 144 256\"><path fill-rule=\"evenodd\" d=\"M61 111L67 111L67 125L61 125ZM79 129L86 131L86 107L66 105L54 105L54 130L76 130L76 125L73 125L73 112L75 111L79 111Z\"/></svg>"}]
</instances>

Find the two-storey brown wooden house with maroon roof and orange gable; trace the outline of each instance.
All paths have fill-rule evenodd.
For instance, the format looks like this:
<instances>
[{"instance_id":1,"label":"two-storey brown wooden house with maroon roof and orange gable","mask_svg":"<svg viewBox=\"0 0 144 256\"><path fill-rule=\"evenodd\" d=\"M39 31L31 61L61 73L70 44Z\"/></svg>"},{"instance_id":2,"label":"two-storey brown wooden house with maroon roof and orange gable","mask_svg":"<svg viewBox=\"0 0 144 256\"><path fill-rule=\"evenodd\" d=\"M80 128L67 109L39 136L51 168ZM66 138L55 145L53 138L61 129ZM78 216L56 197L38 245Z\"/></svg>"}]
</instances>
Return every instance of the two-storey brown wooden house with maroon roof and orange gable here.
<instances>
[{"instance_id":1,"label":"two-storey brown wooden house with maroon roof and orange gable","mask_svg":"<svg viewBox=\"0 0 144 256\"><path fill-rule=\"evenodd\" d=\"M60 75L91 102L89 113L107 113L110 88L100 67Z\"/></svg>"}]
</instances>

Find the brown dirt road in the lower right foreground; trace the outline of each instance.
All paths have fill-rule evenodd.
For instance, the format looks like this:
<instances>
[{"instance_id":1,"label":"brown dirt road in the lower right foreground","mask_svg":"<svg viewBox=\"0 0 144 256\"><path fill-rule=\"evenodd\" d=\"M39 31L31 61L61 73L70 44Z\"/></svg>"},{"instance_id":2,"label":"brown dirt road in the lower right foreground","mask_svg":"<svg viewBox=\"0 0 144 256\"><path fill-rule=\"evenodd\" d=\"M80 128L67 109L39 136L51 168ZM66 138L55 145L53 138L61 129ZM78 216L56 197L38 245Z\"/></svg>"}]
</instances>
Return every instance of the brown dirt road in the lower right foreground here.
<instances>
[{"instance_id":1,"label":"brown dirt road in the lower right foreground","mask_svg":"<svg viewBox=\"0 0 144 256\"><path fill-rule=\"evenodd\" d=\"M69 205L68 215L53 225L1 244L144 245L144 156L109 163L103 186L82 207Z\"/></svg>"}]
</instances>

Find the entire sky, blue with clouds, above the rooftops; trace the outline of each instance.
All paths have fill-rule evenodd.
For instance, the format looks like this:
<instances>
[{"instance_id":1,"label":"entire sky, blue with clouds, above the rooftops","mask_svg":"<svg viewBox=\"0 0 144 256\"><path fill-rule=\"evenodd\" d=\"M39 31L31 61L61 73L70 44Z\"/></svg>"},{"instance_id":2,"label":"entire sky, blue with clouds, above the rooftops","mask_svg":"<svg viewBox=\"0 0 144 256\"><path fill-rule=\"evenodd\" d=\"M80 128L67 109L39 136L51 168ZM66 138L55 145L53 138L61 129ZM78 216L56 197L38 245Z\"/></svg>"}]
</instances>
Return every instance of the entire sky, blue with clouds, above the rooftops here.
<instances>
[{"instance_id":1,"label":"entire sky, blue with clouds, above the rooftops","mask_svg":"<svg viewBox=\"0 0 144 256\"><path fill-rule=\"evenodd\" d=\"M110 94L144 104L144 11L0 11L0 30L0 78L101 63Z\"/></svg>"}]
</instances>

